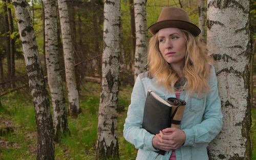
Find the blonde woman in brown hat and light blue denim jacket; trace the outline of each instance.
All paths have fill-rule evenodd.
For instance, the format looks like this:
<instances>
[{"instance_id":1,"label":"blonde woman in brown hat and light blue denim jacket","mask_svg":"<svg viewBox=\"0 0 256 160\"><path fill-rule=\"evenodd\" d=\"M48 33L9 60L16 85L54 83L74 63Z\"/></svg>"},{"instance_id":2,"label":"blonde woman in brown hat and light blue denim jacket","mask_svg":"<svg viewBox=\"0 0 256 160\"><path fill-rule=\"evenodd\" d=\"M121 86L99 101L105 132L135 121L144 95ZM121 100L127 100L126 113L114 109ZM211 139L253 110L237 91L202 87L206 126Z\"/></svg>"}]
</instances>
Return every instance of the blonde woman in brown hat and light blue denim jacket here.
<instances>
[{"instance_id":1,"label":"blonde woman in brown hat and light blue denim jacket","mask_svg":"<svg viewBox=\"0 0 256 160\"><path fill-rule=\"evenodd\" d=\"M201 31L189 22L185 10L176 7L164 8L148 30L154 35L148 48L150 71L135 82L124 138L139 149L139 160L208 159L206 145L220 132L222 113L212 59L196 39ZM142 128L148 90L164 100L185 100L180 129L166 128L154 135ZM159 155L159 149L167 152Z\"/></svg>"}]
</instances>

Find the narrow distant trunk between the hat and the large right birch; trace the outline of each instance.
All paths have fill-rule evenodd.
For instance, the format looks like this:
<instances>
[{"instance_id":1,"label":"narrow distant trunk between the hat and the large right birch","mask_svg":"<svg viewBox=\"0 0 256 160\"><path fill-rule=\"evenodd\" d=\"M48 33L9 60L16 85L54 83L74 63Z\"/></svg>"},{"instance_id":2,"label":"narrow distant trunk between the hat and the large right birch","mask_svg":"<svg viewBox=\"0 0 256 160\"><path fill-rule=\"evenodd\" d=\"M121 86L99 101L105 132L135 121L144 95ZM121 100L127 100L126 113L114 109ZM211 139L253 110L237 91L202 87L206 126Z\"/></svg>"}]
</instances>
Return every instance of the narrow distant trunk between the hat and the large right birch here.
<instances>
[{"instance_id":1,"label":"narrow distant trunk between the hat and the large right birch","mask_svg":"<svg viewBox=\"0 0 256 160\"><path fill-rule=\"evenodd\" d=\"M206 43L205 41L205 5L204 0L198 0L198 26L201 30L201 33L199 34L199 40L203 43Z\"/></svg>"}]
</instances>

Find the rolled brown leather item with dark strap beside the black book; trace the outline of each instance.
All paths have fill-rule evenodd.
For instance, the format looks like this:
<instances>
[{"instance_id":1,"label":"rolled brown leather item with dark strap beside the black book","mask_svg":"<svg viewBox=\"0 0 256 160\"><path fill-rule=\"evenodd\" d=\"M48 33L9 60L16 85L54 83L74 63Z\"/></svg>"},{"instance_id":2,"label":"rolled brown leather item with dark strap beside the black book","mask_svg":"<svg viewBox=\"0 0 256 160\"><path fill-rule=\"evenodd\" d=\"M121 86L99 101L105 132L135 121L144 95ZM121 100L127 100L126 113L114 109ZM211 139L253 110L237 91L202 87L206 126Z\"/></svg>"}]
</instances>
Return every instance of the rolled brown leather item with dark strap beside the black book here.
<instances>
[{"instance_id":1,"label":"rolled brown leather item with dark strap beside the black book","mask_svg":"<svg viewBox=\"0 0 256 160\"><path fill-rule=\"evenodd\" d=\"M180 128L180 122L185 110L186 102L179 98L168 98L167 102L172 105L170 127Z\"/></svg>"}]
</instances>

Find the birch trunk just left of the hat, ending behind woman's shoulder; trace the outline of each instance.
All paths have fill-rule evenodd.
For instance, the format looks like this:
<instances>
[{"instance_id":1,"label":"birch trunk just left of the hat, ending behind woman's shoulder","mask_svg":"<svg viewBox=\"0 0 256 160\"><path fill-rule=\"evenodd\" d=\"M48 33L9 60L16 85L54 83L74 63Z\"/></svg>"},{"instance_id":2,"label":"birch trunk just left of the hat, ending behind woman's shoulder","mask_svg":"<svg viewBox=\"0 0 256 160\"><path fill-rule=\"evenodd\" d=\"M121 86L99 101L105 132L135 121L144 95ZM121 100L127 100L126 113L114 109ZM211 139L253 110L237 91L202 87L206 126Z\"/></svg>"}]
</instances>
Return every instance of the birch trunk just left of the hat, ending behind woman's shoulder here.
<instances>
[{"instance_id":1,"label":"birch trunk just left of the hat, ending behind woman's shoulder","mask_svg":"<svg viewBox=\"0 0 256 160\"><path fill-rule=\"evenodd\" d=\"M147 26L146 0L134 0L136 50L134 62L134 80L147 70Z\"/></svg>"}]
</instances>

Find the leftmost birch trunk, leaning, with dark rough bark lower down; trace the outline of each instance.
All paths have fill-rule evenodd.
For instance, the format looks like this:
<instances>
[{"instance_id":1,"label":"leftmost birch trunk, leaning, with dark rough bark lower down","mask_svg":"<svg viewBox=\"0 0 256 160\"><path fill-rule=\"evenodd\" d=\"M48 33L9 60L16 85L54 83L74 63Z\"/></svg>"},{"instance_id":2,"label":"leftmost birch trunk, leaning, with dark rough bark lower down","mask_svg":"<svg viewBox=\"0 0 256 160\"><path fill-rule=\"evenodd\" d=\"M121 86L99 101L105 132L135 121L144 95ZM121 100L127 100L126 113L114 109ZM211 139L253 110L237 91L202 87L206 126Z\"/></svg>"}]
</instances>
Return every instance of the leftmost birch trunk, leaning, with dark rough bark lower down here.
<instances>
[{"instance_id":1,"label":"leftmost birch trunk, leaning, with dark rough bark lower down","mask_svg":"<svg viewBox=\"0 0 256 160\"><path fill-rule=\"evenodd\" d=\"M25 63L28 72L29 86L35 107L37 124L37 160L54 159L53 123L49 95L40 61L29 5L26 0L13 0L17 25L22 41Z\"/></svg>"}]
</instances>

